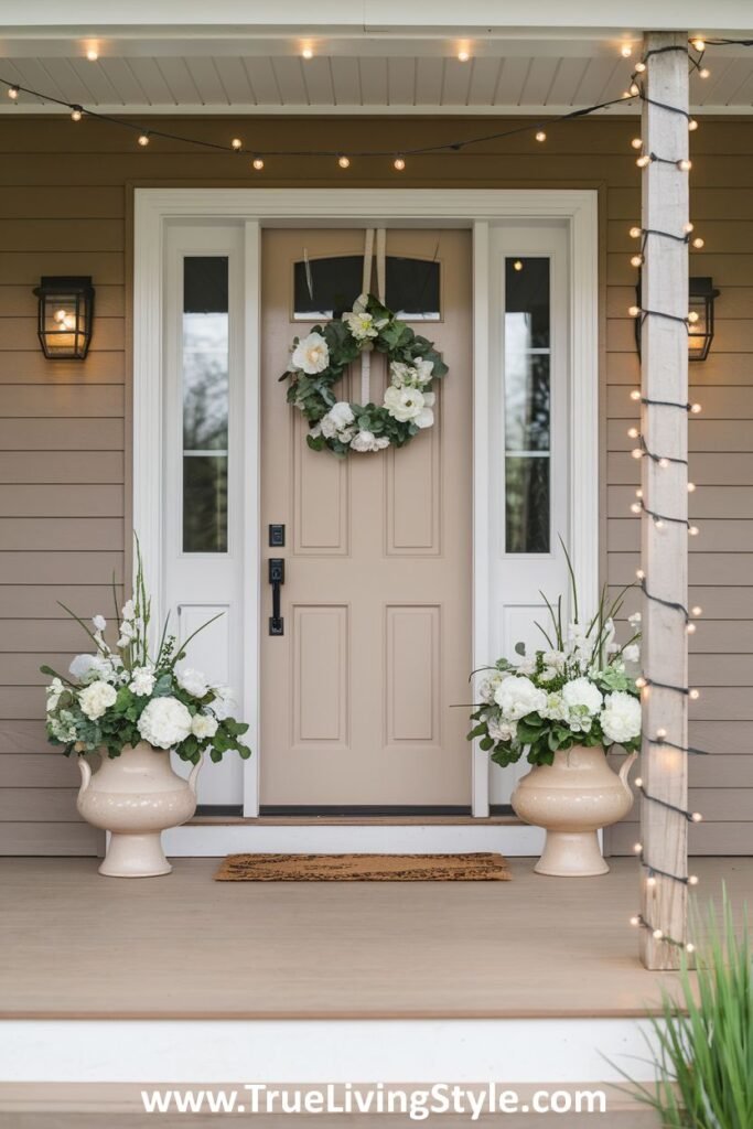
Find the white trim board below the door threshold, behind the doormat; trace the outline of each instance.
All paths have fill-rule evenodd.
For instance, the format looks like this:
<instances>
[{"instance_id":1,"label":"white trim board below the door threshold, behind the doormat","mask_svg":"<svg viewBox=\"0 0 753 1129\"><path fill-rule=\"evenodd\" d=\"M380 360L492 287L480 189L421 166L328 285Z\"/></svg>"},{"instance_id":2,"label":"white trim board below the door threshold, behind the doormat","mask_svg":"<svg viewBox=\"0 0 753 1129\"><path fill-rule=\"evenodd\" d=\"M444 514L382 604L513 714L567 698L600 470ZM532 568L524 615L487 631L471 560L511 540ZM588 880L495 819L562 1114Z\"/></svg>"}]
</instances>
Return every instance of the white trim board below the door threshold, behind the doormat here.
<instances>
[{"instance_id":1,"label":"white trim board below the door threshold, behind the doormat","mask_svg":"<svg viewBox=\"0 0 753 1129\"><path fill-rule=\"evenodd\" d=\"M500 851L537 856L544 848L541 828L470 823L412 824L189 824L163 834L165 854L175 858L221 857L245 851L260 855L374 854L435 855Z\"/></svg>"}]
</instances>

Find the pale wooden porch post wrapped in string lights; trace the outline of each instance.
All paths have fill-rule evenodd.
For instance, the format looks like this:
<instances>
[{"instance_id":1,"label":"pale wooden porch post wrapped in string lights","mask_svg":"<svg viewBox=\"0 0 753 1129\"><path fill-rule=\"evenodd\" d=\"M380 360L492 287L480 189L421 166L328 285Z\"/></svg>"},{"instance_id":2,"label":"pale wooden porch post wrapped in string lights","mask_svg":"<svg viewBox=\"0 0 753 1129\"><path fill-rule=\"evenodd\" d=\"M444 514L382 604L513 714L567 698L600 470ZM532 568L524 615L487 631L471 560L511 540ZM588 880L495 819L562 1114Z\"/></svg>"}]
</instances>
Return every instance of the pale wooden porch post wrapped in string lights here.
<instances>
[{"instance_id":1,"label":"pale wooden porch post wrapped in string lights","mask_svg":"<svg viewBox=\"0 0 753 1129\"><path fill-rule=\"evenodd\" d=\"M647 99L688 112L686 47L685 34L646 33ZM649 54L656 51L660 53ZM674 161L688 158L688 119L651 100L645 100L642 107L642 151L660 159L651 159L643 168L641 227L643 233L682 236L689 217L689 174ZM641 309L684 320L688 246L660 235L643 238ZM688 695L666 689L688 686L685 616L667 606L688 606L688 413L676 406L646 403L688 403L688 329L683 321L643 314L641 356L643 506L677 519L657 520L648 513L641 519L643 671L648 680L643 689L641 777L648 796L685 809L686 754L656 744L655 738L664 732L667 742L683 749L688 745ZM662 464L651 455L666 456L669 462ZM647 594L667 603L657 603ZM640 930L641 960L649 969L676 968L680 949L663 938L685 943L688 887L666 875L684 878L688 874L688 821L643 795L640 826L641 914L648 926ZM654 930L660 930L662 937Z\"/></svg>"}]
</instances>

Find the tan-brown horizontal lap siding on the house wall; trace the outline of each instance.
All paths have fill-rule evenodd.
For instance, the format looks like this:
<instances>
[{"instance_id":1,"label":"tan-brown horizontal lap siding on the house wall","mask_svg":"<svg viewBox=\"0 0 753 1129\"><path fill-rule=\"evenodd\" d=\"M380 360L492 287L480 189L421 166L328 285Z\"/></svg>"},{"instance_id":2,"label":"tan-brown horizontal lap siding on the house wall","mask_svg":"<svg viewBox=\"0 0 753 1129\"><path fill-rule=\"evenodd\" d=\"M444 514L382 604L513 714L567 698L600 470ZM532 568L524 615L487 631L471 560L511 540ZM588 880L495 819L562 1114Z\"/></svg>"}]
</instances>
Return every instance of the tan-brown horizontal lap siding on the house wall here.
<instances>
[{"instance_id":1,"label":"tan-brown horizontal lap siding on the house wall","mask_svg":"<svg viewBox=\"0 0 753 1129\"><path fill-rule=\"evenodd\" d=\"M336 120L343 149L410 149L429 139L485 134L473 121ZM321 123L306 120L181 119L207 138L249 137L260 148L306 148ZM499 126L501 128L501 125ZM342 186L589 186L601 192L603 575L632 579L638 523L630 515L638 464L627 429L638 378L633 250L639 180L629 121L584 121L467 154L409 161L268 161L263 181L245 157L156 142L137 150L106 125L29 117L0 121L0 852L90 854L98 835L73 804L76 765L45 745L41 662L64 665L80 644L56 599L89 615L108 606L113 571L123 576L128 517L124 351L129 202L139 184ZM691 368L703 414L691 422L691 599L704 619L692 638L691 739L713 752L691 763L692 804L706 822L691 831L699 852L753 852L753 123L701 122L692 137L692 217L706 240L692 273L712 274L723 294L713 351ZM32 287L41 274L91 274L97 288L93 350L82 365L49 362L35 336ZM630 849L629 823L611 837Z\"/></svg>"}]
</instances>

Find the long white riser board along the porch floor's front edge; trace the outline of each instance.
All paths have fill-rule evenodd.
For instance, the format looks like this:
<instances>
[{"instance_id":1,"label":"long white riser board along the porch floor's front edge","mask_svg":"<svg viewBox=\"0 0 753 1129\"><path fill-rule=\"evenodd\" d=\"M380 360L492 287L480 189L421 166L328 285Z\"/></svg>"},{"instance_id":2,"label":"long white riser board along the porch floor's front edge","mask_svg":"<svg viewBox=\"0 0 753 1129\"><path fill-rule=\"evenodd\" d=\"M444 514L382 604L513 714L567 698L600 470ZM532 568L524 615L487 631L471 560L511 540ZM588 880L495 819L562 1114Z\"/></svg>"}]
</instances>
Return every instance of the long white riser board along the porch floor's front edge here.
<instances>
[{"instance_id":1,"label":"long white riser board along the porch floor's front edge","mask_svg":"<svg viewBox=\"0 0 753 1129\"><path fill-rule=\"evenodd\" d=\"M645 1019L24 1019L2 1082L507 1084L654 1077Z\"/></svg>"}]
</instances>

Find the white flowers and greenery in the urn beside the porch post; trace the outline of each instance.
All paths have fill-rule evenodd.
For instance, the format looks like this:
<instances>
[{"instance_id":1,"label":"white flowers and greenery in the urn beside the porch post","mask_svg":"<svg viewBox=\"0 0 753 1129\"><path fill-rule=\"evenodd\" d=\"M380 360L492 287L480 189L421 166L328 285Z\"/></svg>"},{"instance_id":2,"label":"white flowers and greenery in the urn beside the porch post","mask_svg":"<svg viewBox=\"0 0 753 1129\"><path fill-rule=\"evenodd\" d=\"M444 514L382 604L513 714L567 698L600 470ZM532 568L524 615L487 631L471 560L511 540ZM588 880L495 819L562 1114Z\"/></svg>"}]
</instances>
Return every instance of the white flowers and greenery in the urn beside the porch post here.
<instances>
[{"instance_id":1,"label":"white flowers and greenery in the urn beside the porch post","mask_svg":"<svg viewBox=\"0 0 753 1129\"><path fill-rule=\"evenodd\" d=\"M548 649L526 656L518 644L517 665L502 658L476 672L483 677L469 739L481 738L498 764L518 761L526 749L531 764L551 764L558 750L578 744L621 745L627 752L640 747L640 691L628 669L640 658L640 615L630 616L631 636L619 645L614 620L624 593L611 606L602 593L596 615L581 623L571 566L570 580L575 614L567 627L561 599L557 610L546 601L554 636L543 632Z\"/></svg>"}]
</instances>

